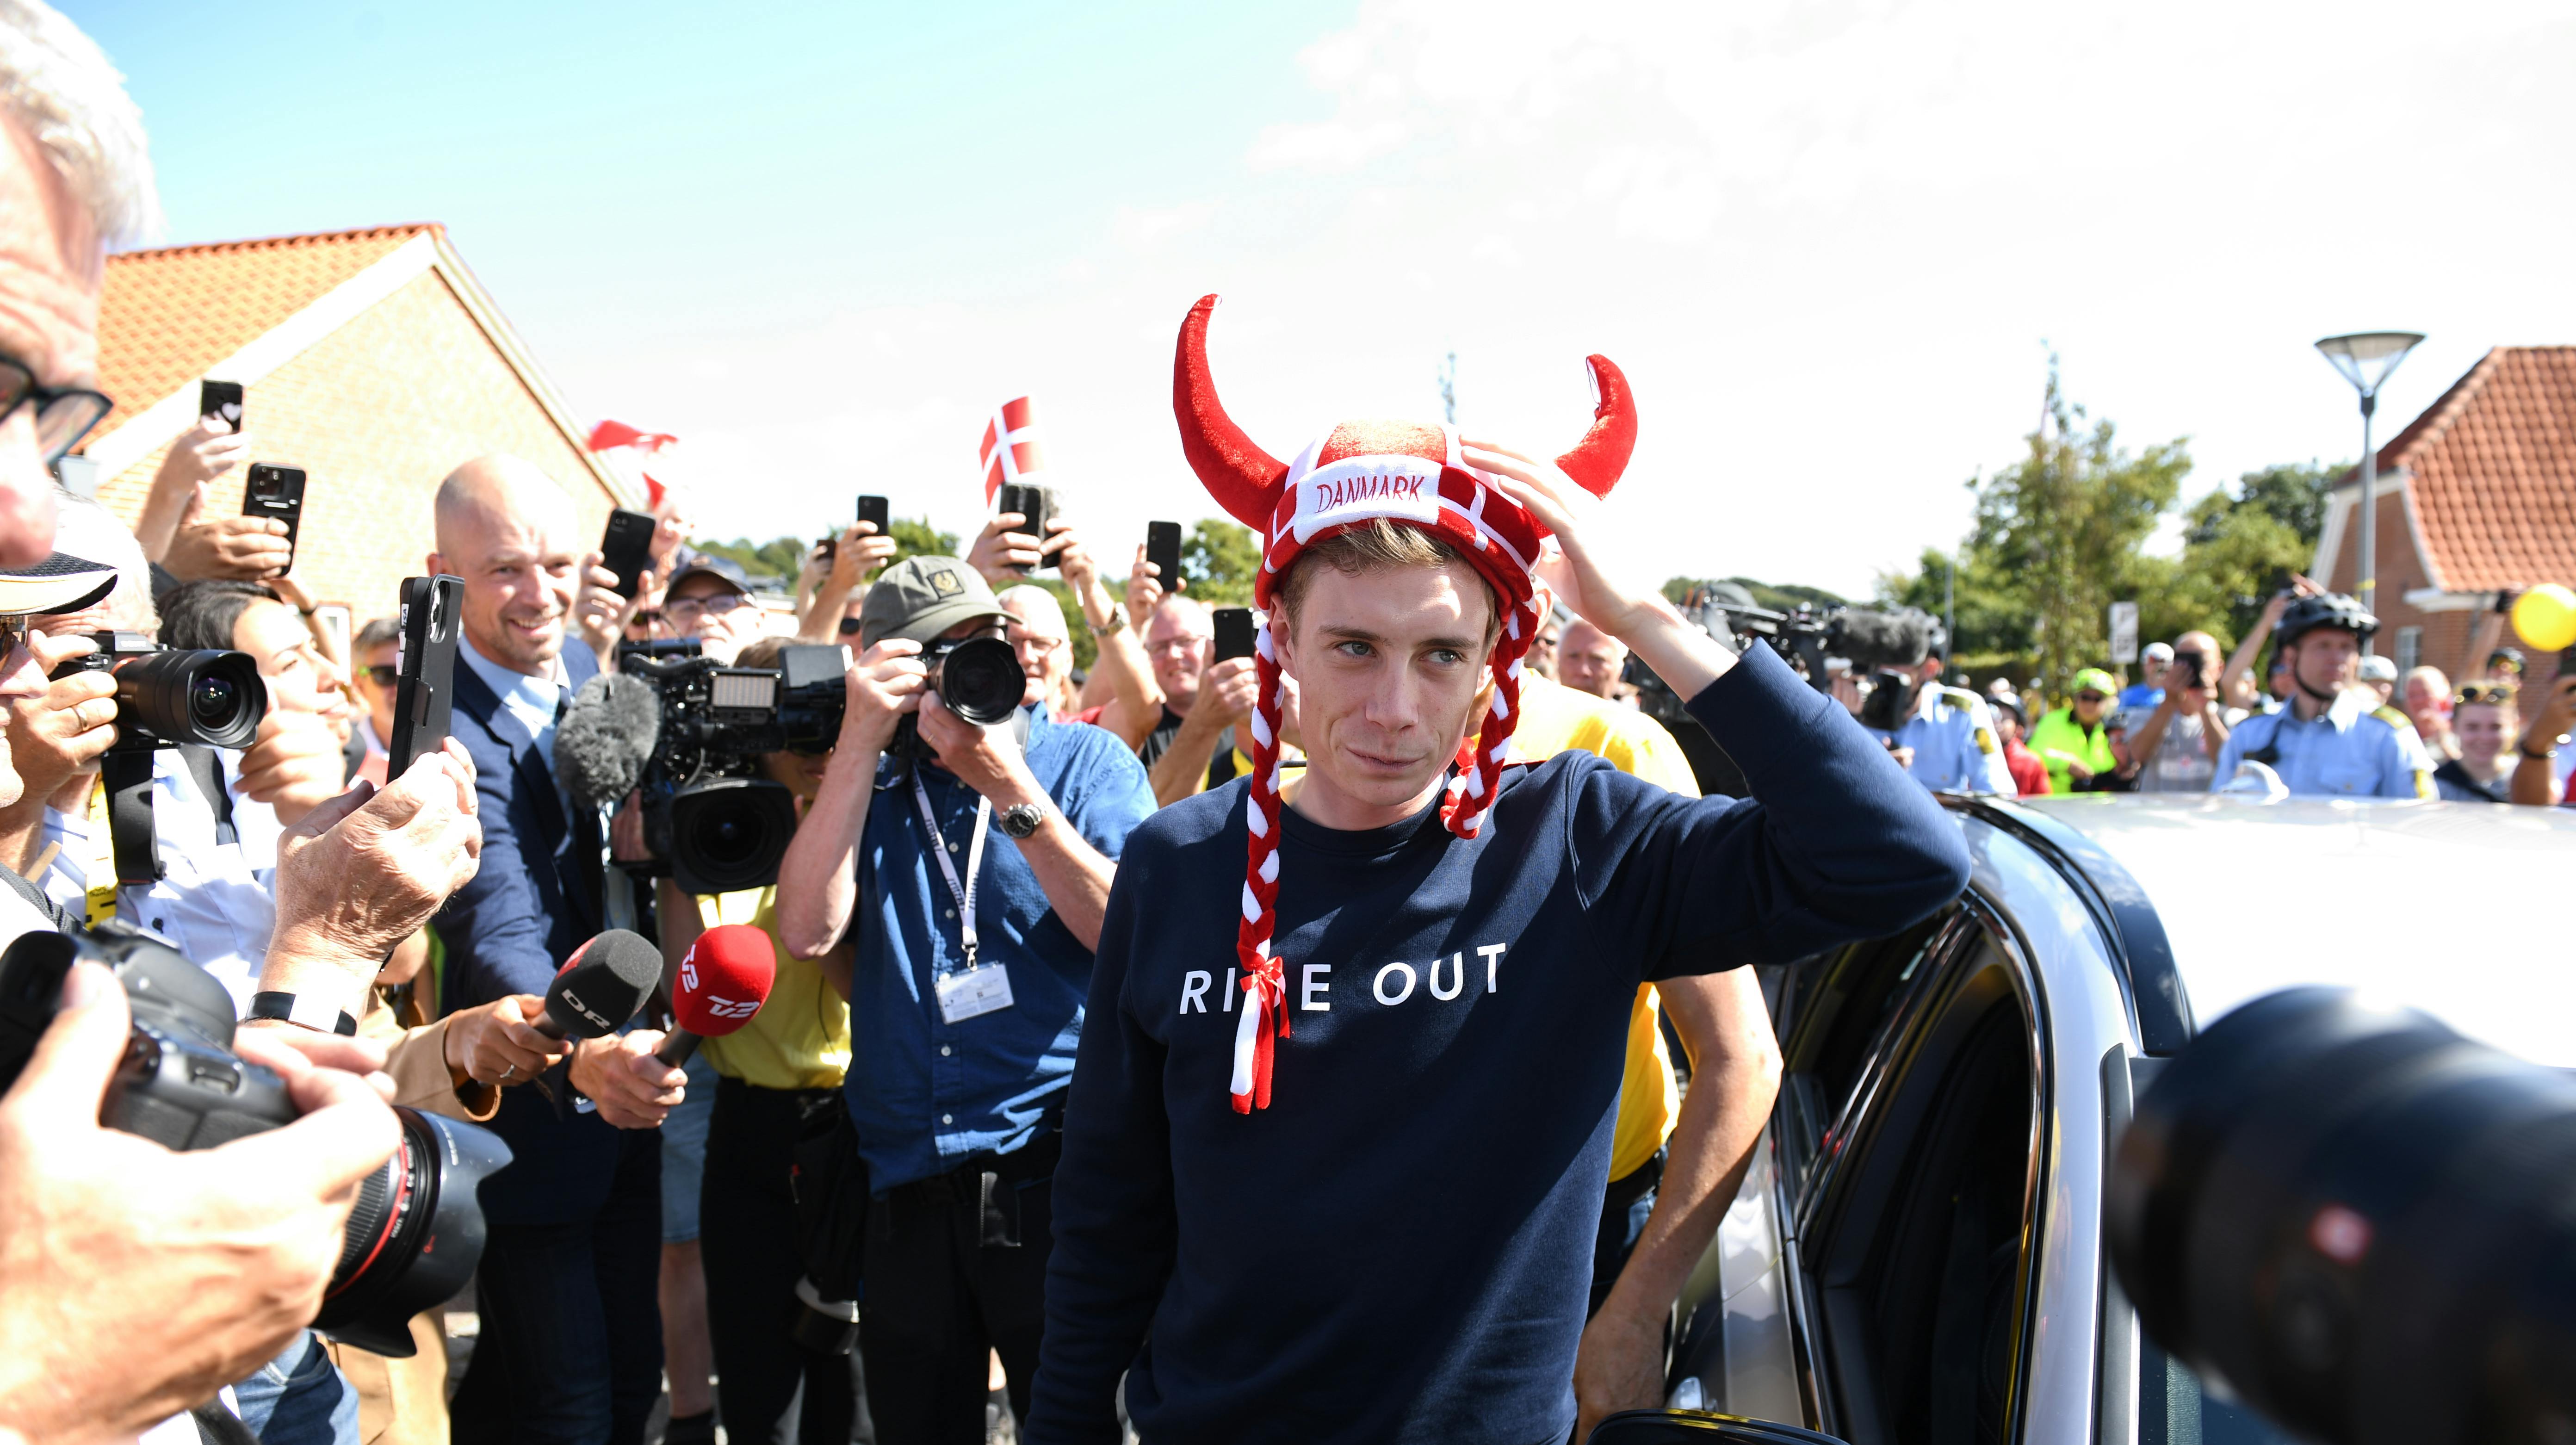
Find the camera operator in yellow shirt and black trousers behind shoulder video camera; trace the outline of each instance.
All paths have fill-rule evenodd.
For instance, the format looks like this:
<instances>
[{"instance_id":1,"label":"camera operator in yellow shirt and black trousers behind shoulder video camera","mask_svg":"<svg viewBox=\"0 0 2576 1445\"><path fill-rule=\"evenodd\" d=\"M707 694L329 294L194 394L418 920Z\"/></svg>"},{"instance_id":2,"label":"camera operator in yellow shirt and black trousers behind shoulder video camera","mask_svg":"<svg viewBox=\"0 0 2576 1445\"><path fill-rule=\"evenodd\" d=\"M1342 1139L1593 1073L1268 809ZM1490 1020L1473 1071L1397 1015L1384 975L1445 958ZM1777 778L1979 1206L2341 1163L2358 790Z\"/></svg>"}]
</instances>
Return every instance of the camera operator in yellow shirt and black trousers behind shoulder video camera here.
<instances>
[{"instance_id":1,"label":"camera operator in yellow shirt and black trousers behind shoulder video camera","mask_svg":"<svg viewBox=\"0 0 2576 1445\"><path fill-rule=\"evenodd\" d=\"M760 639L734 665L778 667L778 639ZM829 755L760 755L760 773L793 791L799 806L811 806L827 770ZM703 1252L703 1319L714 1339L724 1427L734 1440L873 1440L860 1404L858 1352L804 1350L791 1329L804 1308L796 1296L804 1252L791 1190L796 1141L817 1113L845 1110L840 1087L850 1069L850 945L840 943L814 961L788 953L778 943L775 886L693 896L662 878L657 917L665 971L677 968L698 935L716 925L768 932L775 956L760 1012L737 1033L701 1043L693 1059L706 1061L716 1077L714 1115L698 1154L701 1175L688 1187L698 1193L693 1216ZM667 1146L662 1167L675 1167ZM667 1200L670 1190L665 1205ZM698 1267L698 1260L690 1265ZM675 1404L665 1442L675 1445L685 1424L688 1412Z\"/></svg>"}]
</instances>

